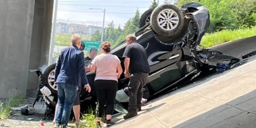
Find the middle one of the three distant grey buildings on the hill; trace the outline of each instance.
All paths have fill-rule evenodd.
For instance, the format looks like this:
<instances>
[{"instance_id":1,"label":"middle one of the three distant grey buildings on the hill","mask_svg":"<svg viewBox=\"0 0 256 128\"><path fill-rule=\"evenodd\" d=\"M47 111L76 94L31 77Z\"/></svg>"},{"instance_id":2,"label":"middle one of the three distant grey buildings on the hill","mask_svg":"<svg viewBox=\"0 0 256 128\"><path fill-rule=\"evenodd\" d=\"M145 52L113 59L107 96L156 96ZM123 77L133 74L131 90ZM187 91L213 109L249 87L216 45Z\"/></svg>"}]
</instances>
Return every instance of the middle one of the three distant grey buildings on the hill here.
<instances>
[{"instance_id":1,"label":"middle one of the three distant grey buildings on the hill","mask_svg":"<svg viewBox=\"0 0 256 128\"><path fill-rule=\"evenodd\" d=\"M73 34L87 34L87 26L84 24L75 24L75 23L70 23L68 25L68 33L73 33Z\"/></svg>"}]
</instances>

